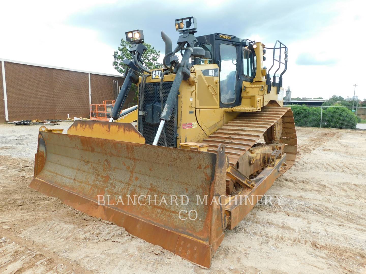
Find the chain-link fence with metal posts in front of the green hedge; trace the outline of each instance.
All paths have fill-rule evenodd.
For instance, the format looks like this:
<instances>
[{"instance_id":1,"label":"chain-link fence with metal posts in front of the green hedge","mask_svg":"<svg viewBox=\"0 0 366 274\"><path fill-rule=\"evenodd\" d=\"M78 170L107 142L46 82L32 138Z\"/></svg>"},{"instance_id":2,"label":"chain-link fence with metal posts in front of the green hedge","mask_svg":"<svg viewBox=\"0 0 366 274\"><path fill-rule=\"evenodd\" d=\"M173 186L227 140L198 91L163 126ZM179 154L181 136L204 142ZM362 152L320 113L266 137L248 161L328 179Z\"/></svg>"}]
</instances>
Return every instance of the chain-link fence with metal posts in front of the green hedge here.
<instances>
[{"instance_id":1,"label":"chain-link fence with metal posts in front of the green hedge","mask_svg":"<svg viewBox=\"0 0 366 274\"><path fill-rule=\"evenodd\" d=\"M295 126L333 129L366 129L366 107L288 105Z\"/></svg>"}]
</instances>

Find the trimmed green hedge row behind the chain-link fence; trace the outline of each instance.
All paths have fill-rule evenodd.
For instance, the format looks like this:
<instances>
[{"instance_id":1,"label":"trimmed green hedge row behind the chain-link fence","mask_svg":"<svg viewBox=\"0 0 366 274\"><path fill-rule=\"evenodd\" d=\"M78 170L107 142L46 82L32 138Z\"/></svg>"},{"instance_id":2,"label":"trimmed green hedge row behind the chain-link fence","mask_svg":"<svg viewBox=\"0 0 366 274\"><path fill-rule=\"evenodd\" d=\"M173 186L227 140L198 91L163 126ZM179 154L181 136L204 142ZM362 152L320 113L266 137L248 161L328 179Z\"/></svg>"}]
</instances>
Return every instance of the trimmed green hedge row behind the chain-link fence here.
<instances>
[{"instance_id":1,"label":"trimmed green hedge row behind the chain-link fence","mask_svg":"<svg viewBox=\"0 0 366 274\"><path fill-rule=\"evenodd\" d=\"M294 113L295 126L320 128L320 107L290 106ZM323 107L322 128L355 129L356 115L346 107Z\"/></svg>"}]
</instances>

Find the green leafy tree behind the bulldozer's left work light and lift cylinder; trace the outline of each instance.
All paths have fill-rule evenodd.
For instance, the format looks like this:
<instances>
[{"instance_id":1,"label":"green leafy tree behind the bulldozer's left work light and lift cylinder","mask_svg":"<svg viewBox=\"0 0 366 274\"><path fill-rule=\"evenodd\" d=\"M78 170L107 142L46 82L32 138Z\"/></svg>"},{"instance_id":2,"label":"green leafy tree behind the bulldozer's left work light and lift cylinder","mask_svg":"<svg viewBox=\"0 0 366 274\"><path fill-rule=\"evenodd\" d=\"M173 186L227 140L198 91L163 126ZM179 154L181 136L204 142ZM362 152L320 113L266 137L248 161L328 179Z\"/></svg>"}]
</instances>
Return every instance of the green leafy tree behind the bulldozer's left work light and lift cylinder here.
<instances>
[{"instance_id":1,"label":"green leafy tree behind the bulldozer's left work light and lift cylinder","mask_svg":"<svg viewBox=\"0 0 366 274\"><path fill-rule=\"evenodd\" d=\"M143 53L141 57L142 65L147 69L156 69L158 65L158 58L160 57L160 51L157 51L152 45L148 43L143 43L147 47L147 50ZM113 54L113 67L119 73L124 73L127 66L123 63L123 60L128 59L132 61L132 54L128 51L130 49L131 43L121 39L121 43ZM139 73L142 76L143 72ZM134 102L137 103L137 86L132 85L130 93L134 94ZM123 107L126 108L127 106Z\"/></svg>"}]
</instances>

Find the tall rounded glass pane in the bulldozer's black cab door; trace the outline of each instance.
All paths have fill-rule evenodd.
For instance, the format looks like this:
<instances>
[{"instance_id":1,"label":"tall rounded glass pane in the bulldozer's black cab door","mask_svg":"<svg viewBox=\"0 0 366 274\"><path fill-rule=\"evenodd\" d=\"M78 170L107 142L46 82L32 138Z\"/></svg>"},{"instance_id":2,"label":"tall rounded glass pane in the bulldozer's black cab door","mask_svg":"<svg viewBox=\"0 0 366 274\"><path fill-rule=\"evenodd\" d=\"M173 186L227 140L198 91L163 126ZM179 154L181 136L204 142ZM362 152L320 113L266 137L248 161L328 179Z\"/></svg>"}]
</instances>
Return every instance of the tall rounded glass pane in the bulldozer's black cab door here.
<instances>
[{"instance_id":1,"label":"tall rounded glass pane in the bulldozer's black cab door","mask_svg":"<svg viewBox=\"0 0 366 274\"><path fill-rule=\"evenodd\" d=\"M236 47L220 44L220 99L224 104L235 102Z\"/></svg>"}]
</instances>

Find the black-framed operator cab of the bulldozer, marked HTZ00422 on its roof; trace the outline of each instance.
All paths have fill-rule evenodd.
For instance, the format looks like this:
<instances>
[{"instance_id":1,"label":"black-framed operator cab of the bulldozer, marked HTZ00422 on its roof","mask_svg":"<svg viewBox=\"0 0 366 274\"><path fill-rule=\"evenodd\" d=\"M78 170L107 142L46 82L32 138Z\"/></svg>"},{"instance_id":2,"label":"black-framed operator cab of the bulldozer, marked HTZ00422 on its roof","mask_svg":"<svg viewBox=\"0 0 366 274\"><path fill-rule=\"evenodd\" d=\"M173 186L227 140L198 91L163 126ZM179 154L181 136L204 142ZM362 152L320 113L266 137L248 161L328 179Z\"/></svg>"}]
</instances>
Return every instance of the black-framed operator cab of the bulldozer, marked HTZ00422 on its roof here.
<instances>
[{"instance_id":1,"label":"black-framed operator cab of the bulldozer, marked HTZ00422 on its roof","mask_svg":"<svg viewBox=\"0 0 366 274\"><path fill-rule=\"evenodd\" d=\"M199 64L219 66L220 107L239 106L243 81L252 83L255 76L253 45L247 40L222 33L198 36L197 40L196 46L203 47L211 57L202 58Z\"/></svg>"}]
</instances>

